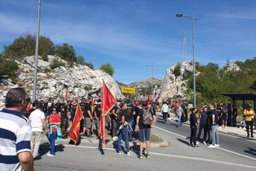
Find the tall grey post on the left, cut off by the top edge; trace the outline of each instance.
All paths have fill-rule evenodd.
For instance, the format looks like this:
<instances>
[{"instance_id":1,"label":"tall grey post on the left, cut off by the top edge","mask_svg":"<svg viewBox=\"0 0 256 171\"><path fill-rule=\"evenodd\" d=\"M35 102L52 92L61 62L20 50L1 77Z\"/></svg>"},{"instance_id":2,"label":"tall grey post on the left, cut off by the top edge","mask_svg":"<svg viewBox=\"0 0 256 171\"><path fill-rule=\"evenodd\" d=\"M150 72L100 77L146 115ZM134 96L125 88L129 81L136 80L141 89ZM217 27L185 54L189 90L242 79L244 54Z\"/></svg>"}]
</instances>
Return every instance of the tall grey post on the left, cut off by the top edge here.
<instances>
[{"instance_id":1,"label":"tall grey post on the left, cut off by the top edge","mask_svg":"<svg viewBox=\"0 0 256 171\"><path fill-rule=\"evenodd\" d=\"M36 100L36 83L37 83L37 65L38 65L38 45L39 45L39 30L40 30L40 13L41 13L41 0L38 0L37 9L37 30L36 30L36 57L34 60L33 72L33 102Z\"/></svg>"}]
</instances>

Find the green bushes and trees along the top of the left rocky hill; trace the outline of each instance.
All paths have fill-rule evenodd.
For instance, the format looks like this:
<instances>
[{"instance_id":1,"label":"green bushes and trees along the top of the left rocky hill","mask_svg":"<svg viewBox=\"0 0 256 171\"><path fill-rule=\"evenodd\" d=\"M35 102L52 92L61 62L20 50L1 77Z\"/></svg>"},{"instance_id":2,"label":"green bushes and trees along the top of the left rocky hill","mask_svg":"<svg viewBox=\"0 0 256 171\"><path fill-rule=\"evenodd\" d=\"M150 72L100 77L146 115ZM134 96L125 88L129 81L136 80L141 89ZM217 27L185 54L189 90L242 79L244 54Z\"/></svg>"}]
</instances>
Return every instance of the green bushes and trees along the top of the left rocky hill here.
<instances>
[{"instance_id":1,"label":"green bushes and trees along the top of the left rocky hill","mask_svg":"<svg viewBox=\"0 0 256 171\"><path fill-rule=\"evenodd\" d=\"M25 57L35 55L36 51L36 36L25 34L19 36L10 45L4 45L4 51L0 53L0 79L2 77L14 78L18 70L16 61L22 61ZM43 60L48 61L48 55L57 55L61 59L68 62L72 66L74 63L86 65L94 69L92 62L86 62L83 56L78 55L72 45L63 43L61 45L54 45L54 42L46 36L39 37L39 56ZM58 68L64 65L59 61L51 63L51 69ZM111 76L114 74L114 68L109 63L100 66L100 70L105 71Z\"/></svg>"}]
</instances>

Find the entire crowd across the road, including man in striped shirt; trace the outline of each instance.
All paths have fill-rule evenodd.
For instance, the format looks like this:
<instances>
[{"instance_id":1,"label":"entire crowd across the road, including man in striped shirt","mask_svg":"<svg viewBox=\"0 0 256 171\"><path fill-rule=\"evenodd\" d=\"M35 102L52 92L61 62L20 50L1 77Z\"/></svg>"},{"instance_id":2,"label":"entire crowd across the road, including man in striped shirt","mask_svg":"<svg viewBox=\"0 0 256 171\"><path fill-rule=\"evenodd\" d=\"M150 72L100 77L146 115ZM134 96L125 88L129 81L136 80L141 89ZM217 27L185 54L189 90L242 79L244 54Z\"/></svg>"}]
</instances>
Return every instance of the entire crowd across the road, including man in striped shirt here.
<instances>
[{"instance_id":1,"label":"entire crowd across the road, including man in striped shirt","mask_svg":"<svg viewBox=\"0 0 256 171\"><path fill-rule=\"evenodd\" d=\"M33 158L39 155L39 146L42 136L45 134L50 142L51 149L48 156L55 155L55 141L68 137L68 128L74 120L77 104L80 104L83 120L80 121L80 136L100 138L99 123L101 116L101 101L93 98L82 98L80 102L65 100L47 102L36 100L32 109L28 110L30 98L24 88L13 88L6 94L6 108L0 110L0 167L4 170L33 170ZM152 101L117 100L115 106L106 115L106 129L115 144L118 155L123 154L121 141L124 141L124 149L127 155L132 155L129 141L138 139L138 158L150 158L150 135L151 128L156 123L156 111L158 103ZM170 103L164 101L161 106L163 122L167 122L170 109L173 108L178 117L177 127L189 120L191 126L190 143L196 147L201 140L209 148L220 146L218 129L227 125L227 117L231 114L232 125L236 126L237 108L220 104L203 106L202 109L191 109L188 115L187 103ZM198 113L198 114L197 114ZM253 123L255 112L252 106L247 105L243 112L246 123L247 136L253 138ZM7 143L9 142L9 143ZM146 152L143 153L144 143ZM6 150L8 147L9 150Z\"/></svg>"}]
</instances>

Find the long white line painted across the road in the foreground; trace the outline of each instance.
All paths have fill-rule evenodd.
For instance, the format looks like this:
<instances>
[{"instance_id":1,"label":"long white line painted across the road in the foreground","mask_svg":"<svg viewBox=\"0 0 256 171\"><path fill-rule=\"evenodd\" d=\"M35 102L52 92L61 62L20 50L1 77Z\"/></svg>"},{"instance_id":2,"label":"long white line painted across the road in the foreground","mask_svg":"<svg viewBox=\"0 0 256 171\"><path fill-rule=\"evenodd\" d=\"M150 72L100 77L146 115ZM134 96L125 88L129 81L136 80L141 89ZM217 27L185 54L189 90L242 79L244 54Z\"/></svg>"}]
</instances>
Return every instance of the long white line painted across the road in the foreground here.
<instances>
[{"instance_id":1,"label":"long white line painted across the road in the foreground","mask_svg":"<svg viewBox=\"0 0 256 171\"><path fill-rule=\"evenodd\" d=\"M74 146L74 145L64 145L64 144L63 144L63 146L74 147L74 148L85 148L85 149L99 149L99 147L97 147L97 146ZM115 149L112 149L112 148L103 147L101 149L115 151ZM135 152L137 152L137 151L135 151ZM188 156L184 156L184 155L169 155L169 154L164 154L164 153L159 153L159 152L150 152L150 153L153 155L166 156L166 157L170 157L170 158L183 158L183 159L194 160L194 161L207 161L207 162L214 162L214 163L219 163L219 164L228 164L228 165L237 166L237 167L247 167L250 169L256 169L256 167L249 166L249 165L234 164L234 163L229 163L229 162L225 162L225 161L215 161L215 160L206 159L206 158L194 158L194 157L188 157Z\"/></svg>"}]
</instances>

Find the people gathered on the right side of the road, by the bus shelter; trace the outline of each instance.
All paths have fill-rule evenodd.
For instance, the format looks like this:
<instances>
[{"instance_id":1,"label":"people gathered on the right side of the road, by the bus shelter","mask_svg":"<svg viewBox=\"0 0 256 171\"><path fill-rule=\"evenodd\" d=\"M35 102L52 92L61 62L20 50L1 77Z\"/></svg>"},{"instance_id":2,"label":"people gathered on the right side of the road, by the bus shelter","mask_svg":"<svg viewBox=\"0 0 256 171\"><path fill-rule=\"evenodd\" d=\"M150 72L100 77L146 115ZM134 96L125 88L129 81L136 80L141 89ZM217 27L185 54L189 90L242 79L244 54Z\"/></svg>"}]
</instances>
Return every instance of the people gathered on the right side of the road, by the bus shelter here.
<instances>
[{"instance_id":1,"label":"people gathered on the right side of the road, by the bus shelter","mask_svg":"<svg viewBox=\"0 0 256 171\"><path fill-rule=\"evenodd\" d=\"M173 107L176 117L178 117L177 127L182 126L182 122L188 120L188 107L185 103L179 105L178 102L174 102L173 106L170 103L164 101L161 107L161 114L164 123L167 122L167 115L170 109ZM198 115L198 116L197 116ZM189 115L189 121L191 126L190 144L193 147L199 145L201 140L201 134L203 133L202 143L208 145L209 148L219 147L219 135L218 129L221 127L225 129L227 126L227 118L231 117L231 126L237 126L237 108L231 105L225 105L225 103L205 105L201 109L191 109ZM255 111L250 104L246 104L246 109L243 111L243 120L246 123L247 138L254 138L253 125L255 122ZM198 132L197 132L198 131Z\"/></svg>"}]
</instances>

